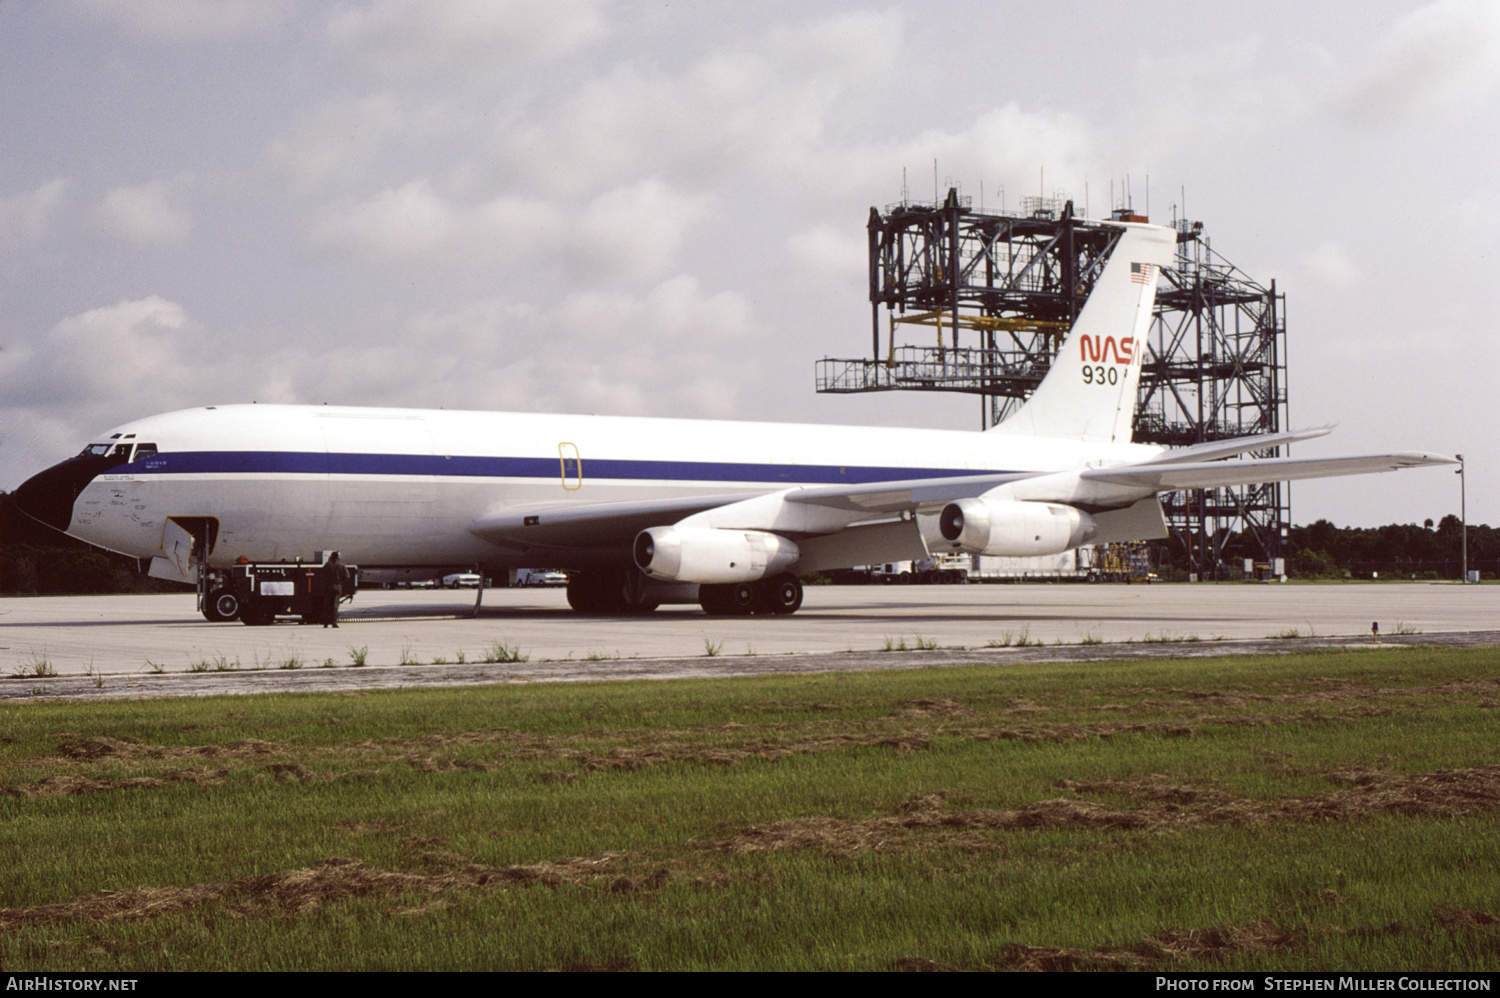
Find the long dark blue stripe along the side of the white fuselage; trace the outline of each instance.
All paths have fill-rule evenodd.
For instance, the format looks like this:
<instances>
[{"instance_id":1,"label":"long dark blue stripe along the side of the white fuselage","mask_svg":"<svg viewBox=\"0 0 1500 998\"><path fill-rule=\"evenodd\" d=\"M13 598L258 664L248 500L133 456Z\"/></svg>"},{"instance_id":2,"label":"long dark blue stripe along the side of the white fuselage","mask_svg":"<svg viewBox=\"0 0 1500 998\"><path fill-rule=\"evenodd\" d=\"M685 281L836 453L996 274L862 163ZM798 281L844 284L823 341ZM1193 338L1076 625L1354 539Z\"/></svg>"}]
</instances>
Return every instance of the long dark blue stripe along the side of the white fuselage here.
<instances>
[{"instance_id":1,"label":"long dark blue stripe along the side of the white fuselage","mask_svg":"<svg viewBox=\"0 0 1500 998\"><path fill-rule=\"evenodd\" d=\"M998 474L974 468L894 468L816 464L735 464L726 461L584 459L585 479L650 482L786 482L867 485L906 479ZM400 453L318 453L302 450L186 450L158 453L111 474L399 474L474 479L561 479L558 458L474 458ZM570 461L568 479L579 470Z\"/></svg>"}]
</instances>

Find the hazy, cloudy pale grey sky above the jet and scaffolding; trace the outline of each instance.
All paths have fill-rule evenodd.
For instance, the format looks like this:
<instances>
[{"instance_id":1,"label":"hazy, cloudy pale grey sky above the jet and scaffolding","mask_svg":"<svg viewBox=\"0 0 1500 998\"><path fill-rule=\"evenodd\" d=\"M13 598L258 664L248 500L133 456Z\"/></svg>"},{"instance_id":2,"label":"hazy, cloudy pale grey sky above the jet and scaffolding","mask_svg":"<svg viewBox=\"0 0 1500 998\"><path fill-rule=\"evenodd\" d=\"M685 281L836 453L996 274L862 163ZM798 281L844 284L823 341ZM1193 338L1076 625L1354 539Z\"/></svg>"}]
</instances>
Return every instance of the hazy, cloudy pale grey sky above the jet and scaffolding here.
<instances>
[{"instance_id":1,"label":"hazy, cloudy pale grey sky above the jet and scaffolding","mask_svg":"<svg viewBox=\"0 0 1500 998\"><path fill-rule=\"evenodd\" d=\"M1202 219L1287 294L1298 453L1500 522L1500 5L0 0L0 488L213 402L978 425L813 392L864 225ZM1293 519L1458 512L1442 470Z\"/></svg>"}]
</instances>

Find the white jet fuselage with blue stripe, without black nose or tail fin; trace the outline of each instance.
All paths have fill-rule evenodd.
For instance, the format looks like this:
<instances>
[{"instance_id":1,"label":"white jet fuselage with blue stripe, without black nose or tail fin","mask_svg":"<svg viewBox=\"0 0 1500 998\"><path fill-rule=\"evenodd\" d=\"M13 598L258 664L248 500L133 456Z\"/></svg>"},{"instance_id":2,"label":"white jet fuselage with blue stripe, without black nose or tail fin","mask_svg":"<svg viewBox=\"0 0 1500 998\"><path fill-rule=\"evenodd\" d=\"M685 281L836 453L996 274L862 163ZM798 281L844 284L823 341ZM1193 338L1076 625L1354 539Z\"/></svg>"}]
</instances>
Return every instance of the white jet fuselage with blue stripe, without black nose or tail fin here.
<instances>
[{"instance_id":1,"label":"white jet fuselage with blue stripe, without black nose or tail fin","mask_svg":"<svg viewBox=\"0 0 1500 998\"><path fill-rule=\"evenodd\" d=\"M154 453L81 485L66 531L150 558L170 518L212 518L213 567L322 549L369 567L532 564L540 552L483 540L471 524L526 504L1046 473L1161 450L966 431L300 405L183 410L105 437L96 450L135 441ZM598 557L579 549L568 564L550 549L542 563Z\"/></svg>"}]
</instances>

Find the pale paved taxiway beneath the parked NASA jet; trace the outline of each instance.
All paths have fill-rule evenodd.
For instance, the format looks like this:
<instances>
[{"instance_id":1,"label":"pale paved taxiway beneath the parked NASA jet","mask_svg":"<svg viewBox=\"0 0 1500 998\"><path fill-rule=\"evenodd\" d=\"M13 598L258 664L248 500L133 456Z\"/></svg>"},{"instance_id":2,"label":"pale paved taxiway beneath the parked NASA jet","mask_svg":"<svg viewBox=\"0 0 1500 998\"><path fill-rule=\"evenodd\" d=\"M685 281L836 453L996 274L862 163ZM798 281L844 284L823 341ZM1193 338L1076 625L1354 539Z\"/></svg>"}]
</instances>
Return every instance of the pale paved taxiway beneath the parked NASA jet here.
<instances>
[{"instance_id":1,"label":"pale paved taxiway beneath the parked NASA jet","mask_svg":"<svg viewBox=\"0 0 1500 998\"><path fill-rule=\"evenodd\" d=\"M0 698L68 695L74 686L153 695L174 675L219 677L189 689L207 693L1119 657L1168 644L1221 654L1365 645L1372 623L1386 642L1486 644L1500 639L1500 587L808 587L790 617L708 617L696 606L584 617L561 590L486 590L476 614L472 591L366 590L340 623L210 624L190 594L0 599ZM872 654L884 651L894 654ZM348 668L356 657L363 669Z\"/></svg>"}]
</instances>

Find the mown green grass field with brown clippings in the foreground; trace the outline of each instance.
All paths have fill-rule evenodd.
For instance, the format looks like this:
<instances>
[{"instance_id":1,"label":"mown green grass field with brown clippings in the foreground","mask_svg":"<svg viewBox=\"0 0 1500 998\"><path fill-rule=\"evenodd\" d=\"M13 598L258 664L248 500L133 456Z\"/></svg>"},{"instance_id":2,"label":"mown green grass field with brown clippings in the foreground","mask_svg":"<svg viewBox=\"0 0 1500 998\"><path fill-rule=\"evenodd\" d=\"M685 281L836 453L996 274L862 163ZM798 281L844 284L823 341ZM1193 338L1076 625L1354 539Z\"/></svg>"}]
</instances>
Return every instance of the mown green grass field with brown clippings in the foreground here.
<instances>
[{"instance_id":1,"label":"mown green grass field with brown clippings in the foreground","mask_svg":"<svg viewBox=\"0 0 1500 998\"><path fill-rule=\"evenodd\" d=\"M0 962L1494 971L1497 743L1496 650L24 702Z\"/></svg>"}]
</instances>

